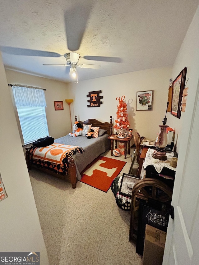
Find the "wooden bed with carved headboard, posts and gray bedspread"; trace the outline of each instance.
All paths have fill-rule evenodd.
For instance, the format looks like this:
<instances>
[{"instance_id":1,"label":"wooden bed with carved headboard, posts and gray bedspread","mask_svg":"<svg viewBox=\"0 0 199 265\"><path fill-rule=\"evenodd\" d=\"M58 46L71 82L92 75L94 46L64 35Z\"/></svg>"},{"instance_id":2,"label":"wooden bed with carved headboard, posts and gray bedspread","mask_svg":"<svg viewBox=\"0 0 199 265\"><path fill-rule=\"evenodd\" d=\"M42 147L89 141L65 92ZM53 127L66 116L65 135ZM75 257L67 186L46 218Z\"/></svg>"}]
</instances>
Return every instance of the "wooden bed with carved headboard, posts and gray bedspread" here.
<instances>
[{"instance_id":1,"label":"wooden bed with carved headboard, posts and gray bedspread","mask_svg":"<svg viewBox=\"0 0 199 265\"><path fill-rule=\"evenodd\" d=\"M77 121L76 116L75 121ZM79 147L76 152L66 154L61 165L33 158L35 146L26 147L25 156L28 169L30 170L32 167L34 167L48 172L53 176L62 178L63 180L69 179L72 184L72 188L75 189L77 180L81 180L81 171L83 171L86 166L88 166L95 158L104 153L110 147L108 136L113 133L112 116L110 116L110 122L106 121L103 123L95 119L88 119L86 121L79 122L81 125L92 124L92 127L99 127L99 129L106 130L106 132L98 138L91 139L87 139L87 137L82 135L77 137L65 135L55 139L54 143Z\"/></svg>"}]
</instances>

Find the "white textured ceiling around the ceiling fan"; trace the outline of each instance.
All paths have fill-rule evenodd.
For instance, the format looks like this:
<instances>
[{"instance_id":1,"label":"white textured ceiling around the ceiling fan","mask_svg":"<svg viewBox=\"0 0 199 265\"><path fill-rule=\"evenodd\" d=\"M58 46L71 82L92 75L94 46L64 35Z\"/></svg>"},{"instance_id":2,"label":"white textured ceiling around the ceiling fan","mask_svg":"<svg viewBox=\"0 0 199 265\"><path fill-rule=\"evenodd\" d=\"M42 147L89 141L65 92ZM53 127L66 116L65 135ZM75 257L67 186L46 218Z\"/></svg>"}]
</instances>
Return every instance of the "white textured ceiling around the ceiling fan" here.
<instances>
[{"instance_id":1,"label":"white textured ceiling around the ceiling fan","mask_svg":"<svg viewBox=\"0 0 199 265\"><path fill-rule=\"evenodd\" d=\"M171 66L199 0L4 0L0 50L4 65L72 82L63 56L81 55L78 79ZM107 58L108 57L108 58Z\"/></svg>"}]
</instances>

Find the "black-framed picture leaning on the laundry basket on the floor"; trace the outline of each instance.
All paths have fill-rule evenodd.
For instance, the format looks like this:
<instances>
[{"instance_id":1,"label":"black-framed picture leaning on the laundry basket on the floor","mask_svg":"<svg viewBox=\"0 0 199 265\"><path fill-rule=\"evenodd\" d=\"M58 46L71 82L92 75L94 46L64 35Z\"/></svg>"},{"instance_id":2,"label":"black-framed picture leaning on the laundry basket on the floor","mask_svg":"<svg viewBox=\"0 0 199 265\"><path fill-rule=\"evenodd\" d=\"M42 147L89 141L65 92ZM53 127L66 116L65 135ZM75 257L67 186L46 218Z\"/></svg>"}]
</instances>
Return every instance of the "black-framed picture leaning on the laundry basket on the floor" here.
<instances>
[{"instance_id":1,"label":"black-framed picture leaning on the laundry basket on the floor","mask_svg":"<svg viewBox=\"0 0 199 265\"><path fill-rule=\"evenodd\" d=\"M119 194L122 194L127 197L132 197L132 189L134 185L139 181L136 176L132 176L132 174L123 173L121 185L119 189Z\"/></svg>"}]
</instances>

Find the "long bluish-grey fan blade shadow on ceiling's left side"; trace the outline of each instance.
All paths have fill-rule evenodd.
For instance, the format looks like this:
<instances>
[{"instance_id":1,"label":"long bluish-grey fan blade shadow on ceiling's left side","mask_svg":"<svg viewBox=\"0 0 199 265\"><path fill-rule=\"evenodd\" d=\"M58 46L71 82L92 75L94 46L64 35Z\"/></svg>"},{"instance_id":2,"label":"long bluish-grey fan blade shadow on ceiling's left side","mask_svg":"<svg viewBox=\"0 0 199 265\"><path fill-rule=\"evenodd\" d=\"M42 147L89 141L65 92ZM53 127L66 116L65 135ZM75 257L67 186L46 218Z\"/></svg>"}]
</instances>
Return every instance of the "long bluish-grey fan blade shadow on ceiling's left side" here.
<instances>
[{"instance_id":1,"label":"long bluish-grey fan blade shadow on ceiling's left side","mask_svg":"<svg viewBox=\"0 0 199 265\"><path fill-rule=\"evenodd\" d=\"M3 53L8 53L8 54L12 54L12 55L41 56L41 57L61 57L62 56L59 53L39 51L39 50L31 50L31 49L23 49L23 48L15 48L15 47L5 47L5 46L0 46L0 50Z\"/></svg>"}]
</instances>

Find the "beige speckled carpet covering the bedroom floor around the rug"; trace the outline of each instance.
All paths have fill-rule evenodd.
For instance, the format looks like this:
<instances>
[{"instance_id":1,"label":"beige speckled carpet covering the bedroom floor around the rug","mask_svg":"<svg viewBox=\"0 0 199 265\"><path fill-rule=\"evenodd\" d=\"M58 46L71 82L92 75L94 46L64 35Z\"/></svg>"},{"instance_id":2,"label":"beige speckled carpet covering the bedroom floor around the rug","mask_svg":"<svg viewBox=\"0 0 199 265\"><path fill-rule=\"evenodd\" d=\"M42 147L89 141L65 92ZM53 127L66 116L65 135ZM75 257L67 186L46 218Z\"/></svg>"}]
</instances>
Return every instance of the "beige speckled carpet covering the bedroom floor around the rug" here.
<instances>
[{"instance_id":1,"label":"beige speckled carpet covering the bedroom floor around the rug","mask_svg":"<svg viewBox=\"0 0 199 265\"><path fill-rule=\"evenodd\" d=\"M113 158L110 151L102 155ZM114 159L127 162L121 175L129 172L130 155ZM128 240L130 212L118 208L111 189L104 193L80 181L72 189L35 169L30 180L50 265L141 264Z\"/></svg>"}]
</instances>

